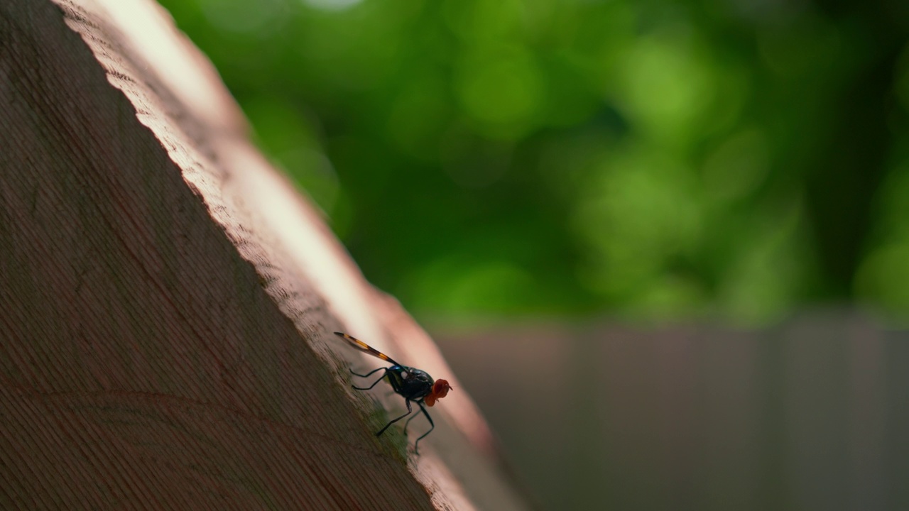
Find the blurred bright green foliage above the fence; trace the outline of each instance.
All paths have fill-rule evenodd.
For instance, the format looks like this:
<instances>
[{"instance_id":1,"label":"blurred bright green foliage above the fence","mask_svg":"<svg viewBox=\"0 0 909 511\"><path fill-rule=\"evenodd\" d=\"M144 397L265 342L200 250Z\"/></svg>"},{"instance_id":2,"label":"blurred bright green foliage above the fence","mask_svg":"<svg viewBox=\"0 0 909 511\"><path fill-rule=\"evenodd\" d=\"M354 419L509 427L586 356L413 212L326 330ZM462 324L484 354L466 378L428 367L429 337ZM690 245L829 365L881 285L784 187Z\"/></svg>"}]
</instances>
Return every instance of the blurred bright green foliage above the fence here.
<instances>
[{"instance_id":1,"label":"blurred bright green foliage above the fence","mask_svg":"<svg viewBox=\"0 0 909 511\"><path fill-rule=\"evenodd\" d=\"M418 319L909 307L909 4L162 0Z\"/></svg>"}]
</instances>

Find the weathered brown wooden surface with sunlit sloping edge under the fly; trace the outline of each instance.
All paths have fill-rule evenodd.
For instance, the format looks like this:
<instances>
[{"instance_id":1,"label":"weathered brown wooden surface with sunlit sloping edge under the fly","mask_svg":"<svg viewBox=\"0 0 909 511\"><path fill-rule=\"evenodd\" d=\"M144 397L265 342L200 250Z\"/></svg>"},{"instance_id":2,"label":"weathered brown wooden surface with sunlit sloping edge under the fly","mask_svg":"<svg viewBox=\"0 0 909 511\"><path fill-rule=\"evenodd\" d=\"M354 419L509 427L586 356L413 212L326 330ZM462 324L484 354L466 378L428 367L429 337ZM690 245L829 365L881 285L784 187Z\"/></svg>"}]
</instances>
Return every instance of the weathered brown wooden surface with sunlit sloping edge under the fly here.
<instances>
[{"instance_id":1,"label":"weathered brown wooden surface with sunlit sloping edge under the fly","mask_svg":"<svg viewBox=\"0 0 909 511\"><path fill-rule=\"evenodd\" d=\"M524 508L157 5L0 2L0 105L0 508ZM423 456L335 330L452 382Z\"/></svg>"}]
</instances>

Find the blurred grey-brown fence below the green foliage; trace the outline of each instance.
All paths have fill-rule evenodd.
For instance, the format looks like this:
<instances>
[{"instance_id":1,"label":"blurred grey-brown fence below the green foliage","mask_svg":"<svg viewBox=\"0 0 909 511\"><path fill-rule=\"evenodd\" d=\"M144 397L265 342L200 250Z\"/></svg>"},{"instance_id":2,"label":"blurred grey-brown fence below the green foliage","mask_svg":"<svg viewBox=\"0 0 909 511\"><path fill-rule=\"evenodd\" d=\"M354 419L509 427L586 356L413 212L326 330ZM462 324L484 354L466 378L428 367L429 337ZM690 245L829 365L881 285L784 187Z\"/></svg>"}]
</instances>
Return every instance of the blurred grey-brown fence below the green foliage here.
<instances>
[{"instance_id":1,"label":"blurred grey-brown fence below the green foliage","mask_svg":"<svg viewBox=\"0 0 909 511\"><path fill-rule=\"evenodd\" d=\"M443 336L548 509L909 509L909 334L854 313L744 332Z\"/></svg>"}]
</instances>

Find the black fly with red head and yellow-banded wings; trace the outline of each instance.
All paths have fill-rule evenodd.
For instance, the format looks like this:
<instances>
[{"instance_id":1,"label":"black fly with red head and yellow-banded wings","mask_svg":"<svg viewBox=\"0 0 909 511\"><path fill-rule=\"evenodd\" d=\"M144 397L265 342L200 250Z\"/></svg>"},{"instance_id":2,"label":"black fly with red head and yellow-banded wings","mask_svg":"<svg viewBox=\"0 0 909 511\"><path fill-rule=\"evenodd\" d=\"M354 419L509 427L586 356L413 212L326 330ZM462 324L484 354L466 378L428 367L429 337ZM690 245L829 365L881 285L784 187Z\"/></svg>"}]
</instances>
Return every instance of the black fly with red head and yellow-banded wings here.
<instances>
[{"instance_id":1,"label":"black fly with red head and yellow-banded wings","mask_svg":"<svg viewBox=\"0 0 909 511\"><path fill-rule=\"evenodd\" d=\"M390 356L385 355L381 351L375 349L372 346L367 345L365 342L355 337L348 336L347 334L341 332L335 332L335 336L339 336L342 339L345 339L356 349L368 353L369 355L375 356L376 358L381 358L385 362L392 364L391 367L379 367L373 371L361 375L355 373L353 369L350 370L351 374L355 376L360 376L365 378L372 376L379 371L384 371L382 377L375 380L371 386L354 386L357 390L369 390L376 386L379 382L385 379L385 376L388 376L388 383L391 384L392 388L395 389L397 394L400 394L404 397L405 405L407 406L407 413L403 416L399 416L395 419L392 419L391 422L385 425L380 429L375 436L381 436L385 433L385 430L388 429L388 426L395 424L395 422L403 419L405 416L409 416L413 413L413 408L410 406L411 401L420 406L420 411L423 412L423 415L426 416L426 419L429 421L429 431L425 432L422 436L416 439L414 444L415 454L419 454L419 445L420 440L422 440L426 435L429 435L433 429L435 429L435 424L433 423L433 417L429 416L429 412L426 411L425 406L433 406L435 402L439 399L442 399L448 394L448 391L452 389L452 386L448 385L447 380L439 379L433 380L432 376L426 374L425 371L420 369L415 369L414 367L402 366L393 360ZM424 406L425 405L425 406ZM410 425L410 421L414 420L418 415L412 416L407 419L404 425L405 435L407 434L407 426Z\"/></svg>"}]
</instances>

